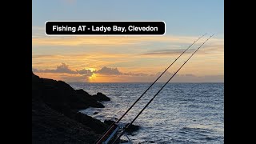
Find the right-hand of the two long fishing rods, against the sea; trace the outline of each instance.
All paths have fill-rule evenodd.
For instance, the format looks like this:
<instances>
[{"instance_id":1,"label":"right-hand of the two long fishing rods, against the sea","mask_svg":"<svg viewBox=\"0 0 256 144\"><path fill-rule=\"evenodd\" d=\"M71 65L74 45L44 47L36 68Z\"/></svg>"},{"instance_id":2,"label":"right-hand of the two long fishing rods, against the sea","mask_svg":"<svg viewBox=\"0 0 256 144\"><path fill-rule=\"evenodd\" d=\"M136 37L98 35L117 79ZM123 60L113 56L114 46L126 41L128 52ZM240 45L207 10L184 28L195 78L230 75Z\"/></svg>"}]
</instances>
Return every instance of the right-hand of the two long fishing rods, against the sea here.
<instances>
[{"instance_id":1,"label":"right-hand of the two long fishing rods, against the sea","mask_svg":"<svg viewBox=\"0 0 256 144\"><path fill-rule=\"evenodd\" d=\"M213 36L214 36L214 34L212 34L212 35L210 36L210 38L213 37ZM207 38L206 41L203 42L202 45L199 46L198 49L195 50L194 53L190 55L190 58L192 58L192 56L193 56L210 38ZM188 62L188 61L190 60L190 58L188 58L188 59L186 60L186 62ZM158 90L158 92L157 92L156 94L154 94L154 97L150 99L150 102L147 102L146 106L143 107L143 109L137 114L137 116L133 119L133 121L130 122L129 125L125 126L125 128L122 130L122 133L118 136L118 138L121 138L121 137L122 137L122 134L124 134L124 133L126 132L127 128L128 128L129 126L131 126L131 125L134 123L134 121L138 118L138 116L139 116L140 114L142 114L142 112L146 109L146 107L150 105L150 103L151 103L151 102L154 100L154 98L160 93L160 91L167 85L167 83L170 82L170 80L171 80L172 78L174 78L174 75L177 74L178 71L182 69L182 67L186 64L186 62L184 62L184 63L182 64L182 66L180 66L179 69L178 69L178 70L170 77L170 79L162 86L162 88L161 88L160 90ZM116 141L118 140L118 138L116 138L116 139L114 140L114 142L116 142ZM113 142L112 144L114 144L114 142Z\"/></svg>"}]
</instances>

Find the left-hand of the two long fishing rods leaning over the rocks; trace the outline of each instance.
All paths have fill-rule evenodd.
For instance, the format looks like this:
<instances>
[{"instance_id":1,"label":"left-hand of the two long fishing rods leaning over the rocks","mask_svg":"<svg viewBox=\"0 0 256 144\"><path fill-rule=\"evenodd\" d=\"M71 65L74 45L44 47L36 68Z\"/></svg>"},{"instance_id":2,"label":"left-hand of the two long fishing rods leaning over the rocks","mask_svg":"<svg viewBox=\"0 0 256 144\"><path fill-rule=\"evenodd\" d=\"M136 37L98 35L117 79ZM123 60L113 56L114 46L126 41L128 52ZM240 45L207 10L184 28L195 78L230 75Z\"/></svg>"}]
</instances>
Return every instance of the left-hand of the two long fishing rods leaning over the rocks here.
<instances>
[{"instance_id":1,"label":"left-hand of the two long fishing rods leaning over the rocks","mask_svg":"<svg viewBox=\"0 0 256 144\"><path fill-rule=\"evenodd\" d=\"M188 47L186 48L186 50L184 50L184 51L182 52L182 54L186 53L186 51L189 50L190 47L193 46L195 42L198 42L198 40L199 40L200 38L202 38L203 36L205 36L205 35L206 35L206 34L202 34L202 36L199 37L196 41L194 41L190 46L188 46ZM182 54L180 54L180 55L178 56L178 58L180 58L180 57L182 56ZM176 59L174 60L174 62L176 62L176 61L178 60L178 58L176 58ZM174 64L174 62L172 62L172 63L170 64L170 66L172 66L172 65ZM94 142L94 143L100 144L100 142L102 141L102 139L105 138L107 134L109 134L110 130L113 130L113 129L114 129L114 124L116 124L116 123L118 123L118 122L120 122L120 121L122 120L122 118L123 118L123 117L130 111L130 109L143 97L143 95L146 94L146 92L147 92L148 90L150 90L150 87L152 87L152 86L154 85L154 83L157 82L158 79L161 78L162 75L166 73L166 71L170 68L170 66L168 66L168 67L166 68L166 70L164 70L164 71L162 72L162 74L160 74L160 75L158 76L158 78L144 91L144 93L129 107L129 109L126 110L126 112L125 112L124 114L122 114L121 118L119 118L117 122L113 122L113 123L108 127L108 129L106 129L106 131L101 135L101 137L99 137L98 140L97 140L96 142Z\"/></svg>"}]
</instances>

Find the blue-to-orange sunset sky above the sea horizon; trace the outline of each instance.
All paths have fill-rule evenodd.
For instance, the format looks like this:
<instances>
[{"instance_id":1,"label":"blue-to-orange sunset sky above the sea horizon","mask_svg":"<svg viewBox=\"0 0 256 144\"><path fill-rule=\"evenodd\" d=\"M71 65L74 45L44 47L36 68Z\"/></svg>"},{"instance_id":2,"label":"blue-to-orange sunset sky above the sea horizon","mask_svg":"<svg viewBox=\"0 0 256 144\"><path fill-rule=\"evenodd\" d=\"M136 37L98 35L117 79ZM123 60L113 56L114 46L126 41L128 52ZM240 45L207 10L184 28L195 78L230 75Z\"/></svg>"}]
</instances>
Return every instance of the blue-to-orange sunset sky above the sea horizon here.
<instances>
[{"instance_id":1,"label":"blue-to-orange sunset sky above the sea horizon","mask_svg":"<svg viewBox=\"0 0 256 144\"><path fill-rule=\"evenodd\" d=\"M224 2L32 1L32 67L42 78L65 82L153 82L159 73L202 34L159 82L215 34L170 82L224 81ZM164 36L50 37L46 21L164 21Z\"/></svg>"}]
</instances>

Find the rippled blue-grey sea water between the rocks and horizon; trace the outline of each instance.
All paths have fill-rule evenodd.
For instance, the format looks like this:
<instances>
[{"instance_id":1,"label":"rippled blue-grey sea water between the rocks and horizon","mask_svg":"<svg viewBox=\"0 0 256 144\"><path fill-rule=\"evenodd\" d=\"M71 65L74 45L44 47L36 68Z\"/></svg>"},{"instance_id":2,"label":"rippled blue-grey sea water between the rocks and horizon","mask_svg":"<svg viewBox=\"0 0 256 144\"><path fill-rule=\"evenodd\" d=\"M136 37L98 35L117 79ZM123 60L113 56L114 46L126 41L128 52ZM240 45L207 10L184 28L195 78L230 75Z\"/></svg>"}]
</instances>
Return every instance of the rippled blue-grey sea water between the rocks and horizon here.
<instances>
[{"instance_id":1,"label":"rippled blue-grey sea water between the rocks and horizon","mask_svg":"<svg viewBox=\"0 0 256 144\"><path fill-rule=\"evenodd\" d=\"M151 83L70 83L89 94L102 92L105 108L81 110L102 122L117 120ZM164 83L142 97L122 119L131 122ZM134 143L224 143L224 83L168 83L134 122L141 128L129 135ZM125 138L124 138L125 139Z\"/></svg>"}]
</instances>

